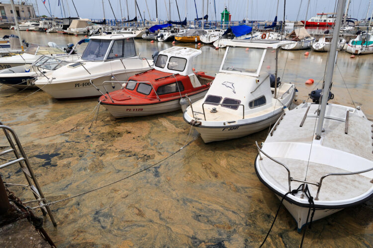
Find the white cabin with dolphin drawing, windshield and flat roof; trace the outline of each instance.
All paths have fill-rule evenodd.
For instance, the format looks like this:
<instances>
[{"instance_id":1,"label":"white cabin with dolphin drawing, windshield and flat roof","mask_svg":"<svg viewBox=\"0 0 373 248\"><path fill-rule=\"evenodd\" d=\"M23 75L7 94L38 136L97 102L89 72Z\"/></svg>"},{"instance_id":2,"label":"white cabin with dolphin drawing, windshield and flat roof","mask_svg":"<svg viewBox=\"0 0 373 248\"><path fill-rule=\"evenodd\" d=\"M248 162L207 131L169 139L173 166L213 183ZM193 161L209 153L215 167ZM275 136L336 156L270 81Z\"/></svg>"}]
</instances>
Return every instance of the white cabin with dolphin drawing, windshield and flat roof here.
<instances>
[{"instance_id":1,"label":"white cabin with dolphin drawing, windshield and flat roof","mask_svg":"<svg viewBox=\"0 0 373 248\"><path fill-rule=\"evenodd\" d=\"M219 73L204 102L222 110L238 110L243 105L245 112L268 107L274 99L276 50L289 43L278 40L225 41L227 49ZM280 89L276 90L278 95L281 94Z\"/></svg>"}]
</instances>

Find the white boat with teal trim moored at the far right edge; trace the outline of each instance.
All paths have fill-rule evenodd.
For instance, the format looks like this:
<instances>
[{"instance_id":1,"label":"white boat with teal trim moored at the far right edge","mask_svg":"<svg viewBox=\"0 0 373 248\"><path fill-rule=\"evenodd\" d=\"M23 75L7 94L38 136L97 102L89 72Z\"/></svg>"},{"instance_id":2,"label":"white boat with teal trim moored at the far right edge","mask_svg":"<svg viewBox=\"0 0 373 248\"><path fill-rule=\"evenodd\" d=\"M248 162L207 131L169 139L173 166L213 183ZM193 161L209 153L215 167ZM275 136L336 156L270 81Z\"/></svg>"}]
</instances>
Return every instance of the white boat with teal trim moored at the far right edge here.
<instances>
[{"instance_id":1,"label":"white boat with teal trim moored at the far right edge","mask_svg":"<svg viewBox=\"0 0 373 248\"><path fill-rule=\"evenodd\" d=\"M346 52L350 54L373 54L373 34L359 34L347 44Z\"/></svg>"}]
</instances>

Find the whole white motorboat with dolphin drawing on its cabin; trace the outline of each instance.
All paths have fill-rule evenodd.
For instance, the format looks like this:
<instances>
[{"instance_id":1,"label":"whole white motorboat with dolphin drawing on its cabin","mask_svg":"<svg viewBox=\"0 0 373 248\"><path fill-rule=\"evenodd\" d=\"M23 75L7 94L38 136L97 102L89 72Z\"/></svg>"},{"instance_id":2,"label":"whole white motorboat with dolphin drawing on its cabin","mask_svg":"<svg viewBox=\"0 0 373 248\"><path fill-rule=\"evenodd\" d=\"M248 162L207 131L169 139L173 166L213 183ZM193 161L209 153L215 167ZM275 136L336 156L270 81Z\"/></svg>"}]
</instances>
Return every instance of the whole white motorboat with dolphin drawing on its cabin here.
<instances>
[{"instance_id":1,"label":"whole white motorboat with dolphin drawing on its cabin","mask_svg":"<svg viewBox=\"0 0 373 248\"><path fill-rule=\"evenodd\" d=\"M295 85L280 84L280 79L271 74L276 72L277 51L286 44L287 41L226 42L219 73L206 96L184 113L184 120L196 128L205 143L268 128L290 106Z\"/></svg>"}]
</instances>

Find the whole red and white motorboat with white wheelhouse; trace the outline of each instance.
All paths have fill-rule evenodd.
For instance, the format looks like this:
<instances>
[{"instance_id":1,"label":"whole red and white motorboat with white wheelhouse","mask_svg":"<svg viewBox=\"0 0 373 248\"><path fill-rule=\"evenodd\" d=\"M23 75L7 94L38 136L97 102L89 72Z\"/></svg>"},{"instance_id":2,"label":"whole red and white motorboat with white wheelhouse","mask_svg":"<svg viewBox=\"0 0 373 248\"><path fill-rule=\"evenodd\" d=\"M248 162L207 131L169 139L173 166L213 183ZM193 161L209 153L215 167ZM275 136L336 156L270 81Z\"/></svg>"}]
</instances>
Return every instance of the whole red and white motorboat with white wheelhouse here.
<instances>
[{"instance_id":1,"label":"whole red and white motorboat with white wheelhouse","mask_svg":"<svg viewBox=\"0 0 373 248\"><path fill-rule=\"evenodd\" d=\"M160 52L153 69L130 77L122 89L101 96L100 104L115 118L124 118L179 110L186 94L191 102L202 99L214 77L193 72L193 59L201 53L184 47Z\"/></svg>"}]
</instances>

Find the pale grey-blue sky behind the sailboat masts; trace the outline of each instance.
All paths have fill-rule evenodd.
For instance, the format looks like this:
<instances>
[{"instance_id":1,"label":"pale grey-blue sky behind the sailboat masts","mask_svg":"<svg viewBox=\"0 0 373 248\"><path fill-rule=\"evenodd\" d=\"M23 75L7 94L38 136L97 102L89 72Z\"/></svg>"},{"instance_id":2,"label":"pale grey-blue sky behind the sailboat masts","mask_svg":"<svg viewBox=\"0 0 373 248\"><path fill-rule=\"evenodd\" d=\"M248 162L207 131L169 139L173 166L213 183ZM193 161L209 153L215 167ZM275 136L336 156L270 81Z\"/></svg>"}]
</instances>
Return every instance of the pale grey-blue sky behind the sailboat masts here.
<instances>
[{"instance_id":1,"label":"pale grey-blue sky behind the sailboat masts","mask_svg":"<svg viewBox=\"0 0 373 248\"><path fill-rule=\"evenodd\" d=\"M48 2L49 1L49 2ZM38 5L40 15L48 15L49 4L52 15L61 17L61 13L65 16L63 9L58 6L58 2L63 1L66 16L77 16L74 9L73 0L46 0L45 5L43 0L28 0L32 2L36 8ZM74 0L75 6L78 10L79 16L89 19L102 19L103 10L106 19L114 19L113 12L110 8L109 1L114 10L117 19L127 17L126 0ZM171 19L179 20L177 11L177 4L179 6L180 17L183 20L186 16L187 20L192 20L202 16L202 1L204 2L203 14L209 15L209 20L215 20L214 2L216 4L216 17L220 20L220 13L224 6L228 7L232 17L231 20L237 21L248 17L250 20L273 20L277 12L277 4L279 1L278 18L283 19L283 4L284 0L195 0L197 13L194 6L194 0L170 0L171 1ZM207 9L208 1L208 9ZM309 8L307 12L307 20L320 12L334 12L337 0L309 0ZM135 0L127 0L129 18L135 17ZM154 20L156 18L156 0L137 0L137 4L141 11L141 15L146 19ZM177 2L177 4L176 4ZM186 4L187 3L187 4ZM286 20L304 20L306 18L308 0L286 0L285 18ZM120 10L120 4L122 11ZM157 0L158 5L158 19L168 20L169 0ZM187 8L186 8L187 5ZM365 18L368 12L369 0L351 0L349 15L353 18ZM148 11L149 9L149 11ZM167 10L166 10L167 9ZM35 9L38 13L37 9ZM369 10L368 17L373 11L373 3ZM70 13L70 14L69 14ZM150 14L150 18L149 18ZM139 11L137 11L138 19L140 20Z\"/></svg>"}]
</instances>

